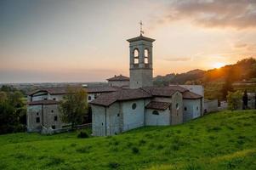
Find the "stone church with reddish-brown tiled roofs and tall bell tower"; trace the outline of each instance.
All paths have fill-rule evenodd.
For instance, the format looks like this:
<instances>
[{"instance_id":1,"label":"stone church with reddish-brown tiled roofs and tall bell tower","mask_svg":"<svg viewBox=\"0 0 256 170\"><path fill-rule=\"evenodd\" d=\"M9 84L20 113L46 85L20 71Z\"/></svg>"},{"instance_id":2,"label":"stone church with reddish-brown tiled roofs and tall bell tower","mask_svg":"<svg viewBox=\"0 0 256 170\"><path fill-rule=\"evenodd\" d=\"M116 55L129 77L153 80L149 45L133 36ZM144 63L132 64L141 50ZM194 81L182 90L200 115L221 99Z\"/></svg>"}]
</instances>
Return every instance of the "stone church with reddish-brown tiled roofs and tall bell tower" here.
<instances>
[{"instance_id":1,"label":"stone church with reddish-brown tiled roofs and tall bell tower","mask_svg":"<svg viewBox=\"0 0 256 170\"><path fill-rule=\"evenodd\" d=\"M101 94L90 102L94 136L115 135L144 126L180 124L202 116L203 94L178 85L153 86L153 42L134 37L129 42L129 80L111 78L128 85L115 92ZM121 83L121 82L122 83Z\"/></svg>"}]
</instances>

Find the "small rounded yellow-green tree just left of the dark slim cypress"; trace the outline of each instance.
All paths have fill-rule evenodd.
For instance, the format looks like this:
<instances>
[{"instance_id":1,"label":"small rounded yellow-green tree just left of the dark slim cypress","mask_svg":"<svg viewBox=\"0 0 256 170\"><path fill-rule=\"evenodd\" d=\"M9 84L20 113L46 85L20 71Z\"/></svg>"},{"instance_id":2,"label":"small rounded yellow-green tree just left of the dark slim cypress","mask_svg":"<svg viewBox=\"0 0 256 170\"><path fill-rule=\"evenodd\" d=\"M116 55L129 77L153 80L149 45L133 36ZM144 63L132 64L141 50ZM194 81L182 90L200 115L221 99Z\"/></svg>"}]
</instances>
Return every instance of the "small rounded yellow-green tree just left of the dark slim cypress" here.
<instances>
[{"instance_id":1,"label":"small rounded yellow-green tree just left of the dark slim cypress","mask_svg":"<svg viewBox=\"0 0 256 170\"><path fill-rule=\"evenodd\" d=\"M242 108L242 91L228 92L227 101L228 109L231 111Z\"/></svg>"}]
</instances>

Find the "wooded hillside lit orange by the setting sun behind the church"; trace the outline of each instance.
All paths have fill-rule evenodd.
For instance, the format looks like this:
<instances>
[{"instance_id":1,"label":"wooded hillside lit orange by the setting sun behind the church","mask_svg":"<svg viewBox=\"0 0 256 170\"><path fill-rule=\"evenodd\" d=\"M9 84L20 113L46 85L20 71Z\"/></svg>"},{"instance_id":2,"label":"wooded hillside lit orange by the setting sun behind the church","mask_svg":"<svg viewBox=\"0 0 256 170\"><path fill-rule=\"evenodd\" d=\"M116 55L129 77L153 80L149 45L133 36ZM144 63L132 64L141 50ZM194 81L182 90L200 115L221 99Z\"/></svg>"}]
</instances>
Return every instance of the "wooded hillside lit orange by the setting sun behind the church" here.
<instances>
[{"instance_id":1,"label":"wooded hillside lit orange by the setting sun behind the church","mask_svg":"<svg viewBox=\"0 0 256 170\"><path fill-rule=\"evenodd\" d=\"M200 84L205 88L206 99L225 99L222 89L225 82L242 82L234 89L256 92L256 59L248 58L238 61L234 65L225 65L219 69L208 71L193 70L181 74L168 74L154 78L154 85L168 86L169 84ZM247 86L245 82L251 84Z\"/></svg>"}]
</instances>

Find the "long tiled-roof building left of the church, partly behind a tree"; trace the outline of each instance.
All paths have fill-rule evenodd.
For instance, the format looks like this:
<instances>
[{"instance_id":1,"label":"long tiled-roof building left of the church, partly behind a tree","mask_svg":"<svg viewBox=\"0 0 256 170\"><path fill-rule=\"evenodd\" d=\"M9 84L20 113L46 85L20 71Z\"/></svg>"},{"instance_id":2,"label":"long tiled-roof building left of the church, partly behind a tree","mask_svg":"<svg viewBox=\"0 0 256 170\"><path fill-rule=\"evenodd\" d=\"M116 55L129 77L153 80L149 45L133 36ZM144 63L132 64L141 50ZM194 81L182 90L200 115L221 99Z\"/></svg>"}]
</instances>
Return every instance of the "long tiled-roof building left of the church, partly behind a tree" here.
<instances>
[{"instance_id":1,"label":"long tiled-roof building left of the church, partly behind a tree","mask_svg":"<svg viewBox=\"0 0 256 170\"><path fill-rule=\"evenodd\" d=\"M100 94L115 92L119 88L115 87L89 87L84 88L88 92L88 103ZM42 132L42 130L57 129L65 127L65 123L60 120L59 104L67 88L41 88L27 97L27 131Z\"/></svg>"}]
</instances>

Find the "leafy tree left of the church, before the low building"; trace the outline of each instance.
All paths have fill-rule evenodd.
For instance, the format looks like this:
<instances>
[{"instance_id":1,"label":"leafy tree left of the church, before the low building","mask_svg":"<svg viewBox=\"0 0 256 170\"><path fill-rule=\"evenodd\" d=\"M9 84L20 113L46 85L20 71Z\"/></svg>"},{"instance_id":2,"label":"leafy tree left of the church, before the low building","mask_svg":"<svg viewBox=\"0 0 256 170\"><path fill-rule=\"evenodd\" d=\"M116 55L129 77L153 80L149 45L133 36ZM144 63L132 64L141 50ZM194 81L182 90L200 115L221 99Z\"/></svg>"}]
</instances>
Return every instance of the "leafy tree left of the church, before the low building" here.
<instances>
[{"instance_id":1,"label":"leafy tree left of the church, before the low building","mask_svg":"<svg viewBox=\"0 0 256 170\"><path fill-rule=\"evenodd\" d=\"M60 101L62 122L71 123L71 129L82 123L83 117L88 113L87 92L82 88L68 88Z\"/></svg>"}]
</instances>

